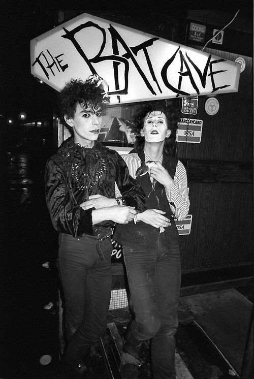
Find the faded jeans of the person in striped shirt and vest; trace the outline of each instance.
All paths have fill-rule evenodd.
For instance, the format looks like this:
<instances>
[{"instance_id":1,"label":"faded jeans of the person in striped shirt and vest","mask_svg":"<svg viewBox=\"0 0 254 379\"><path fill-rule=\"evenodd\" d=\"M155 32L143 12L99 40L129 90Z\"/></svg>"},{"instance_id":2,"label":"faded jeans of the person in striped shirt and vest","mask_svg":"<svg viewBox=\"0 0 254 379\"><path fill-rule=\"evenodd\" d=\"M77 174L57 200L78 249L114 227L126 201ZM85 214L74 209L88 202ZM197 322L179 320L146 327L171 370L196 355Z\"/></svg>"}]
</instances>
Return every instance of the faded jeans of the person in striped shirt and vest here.
<instances>
[{"instance_id":1,"label":"faded jeans of the person in striped shirt and vest","mask_svg":"<svg viewBox=\"0 0 254 379\"><path fill-rule=\"evenodd\" d=\"M137 356L141 342L151 339L154 379L175 378L174 334L178 326L181 278L178 238L170 242L166 232L157 230L149 233L123 230L121 237L135 312L124 350Z\"/></svg>"}]
</instances>

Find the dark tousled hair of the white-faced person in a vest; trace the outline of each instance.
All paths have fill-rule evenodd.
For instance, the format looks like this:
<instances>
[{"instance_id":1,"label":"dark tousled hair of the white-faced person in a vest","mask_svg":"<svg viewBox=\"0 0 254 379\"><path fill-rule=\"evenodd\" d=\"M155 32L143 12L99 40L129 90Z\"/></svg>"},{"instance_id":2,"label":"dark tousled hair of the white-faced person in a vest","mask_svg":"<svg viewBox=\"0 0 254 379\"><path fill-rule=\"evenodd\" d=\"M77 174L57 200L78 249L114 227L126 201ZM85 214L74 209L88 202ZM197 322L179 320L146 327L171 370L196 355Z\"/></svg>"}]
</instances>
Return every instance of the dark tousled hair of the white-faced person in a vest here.
<instances>
[{"instance_id":1,"label":"dark tousled hair of the white-faced person in a vest","mask_svg":"<svg viewBox=\"0 0 254 379\"><path fill-rule=\"evenodd\" d=\"M172 154L172 150L175 144L177 122L180 119L179 104L173 104L173 101L171 101L171 104L167 104L167 102L165 101L156 103L146 103L141 106L134 118L135 127L133 128L133 132L136 135L134 149L136 151L139 151L144 148L145 138L141 137L140 131L144 127L145 116L153 111L163 112L166 116L168 129L170 129L171 134L170 137L166 138L165 140L163 153L166 155L170 155Z\"/></svg>"}]
</instances>

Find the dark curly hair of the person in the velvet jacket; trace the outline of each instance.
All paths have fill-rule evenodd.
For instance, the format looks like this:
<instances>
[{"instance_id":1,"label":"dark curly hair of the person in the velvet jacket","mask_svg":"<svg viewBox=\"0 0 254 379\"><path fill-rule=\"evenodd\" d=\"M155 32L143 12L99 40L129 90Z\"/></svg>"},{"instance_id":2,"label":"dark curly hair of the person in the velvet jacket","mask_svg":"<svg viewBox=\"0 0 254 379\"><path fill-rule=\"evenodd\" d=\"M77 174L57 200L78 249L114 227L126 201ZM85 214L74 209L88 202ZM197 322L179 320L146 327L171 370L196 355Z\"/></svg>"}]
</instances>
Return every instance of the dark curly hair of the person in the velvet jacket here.
<instances>
[{"instance_id":1,"label":"dark curly hair of the person in the velvet jacket","mask_svg":"<svg viewBox=\"0 0 254 379\"><path fill-rule=\"evenodd\" d=\"M84 109L89 104L103 108L103 94L100 87L93 83L84 82L82 79L71 79L58 94L58 110L60 122L69 130L72 128L66 123L65 115L72 118L76 111L77 104Z\"/></svg>"}]
</instances>

